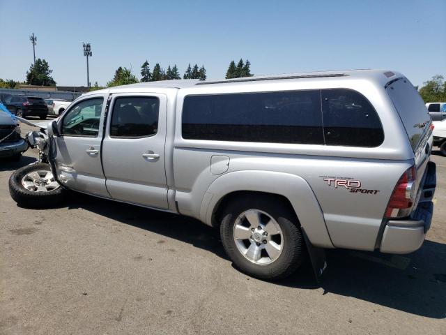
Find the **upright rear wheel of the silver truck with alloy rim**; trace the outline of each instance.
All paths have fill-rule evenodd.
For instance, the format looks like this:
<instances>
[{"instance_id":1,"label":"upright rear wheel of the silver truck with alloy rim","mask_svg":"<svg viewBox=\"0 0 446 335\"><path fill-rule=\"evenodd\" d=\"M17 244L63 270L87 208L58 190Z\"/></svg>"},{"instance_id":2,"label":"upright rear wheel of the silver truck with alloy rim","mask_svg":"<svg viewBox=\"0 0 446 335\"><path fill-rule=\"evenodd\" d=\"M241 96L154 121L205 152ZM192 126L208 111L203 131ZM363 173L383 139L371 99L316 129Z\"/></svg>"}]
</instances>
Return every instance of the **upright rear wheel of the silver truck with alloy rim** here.
<instances>
[{"instance_id":1,"label":"upright rear wheel of the silver truck with alloy rim","mask_svg":"<svg viewBox=\"0 0 446 335\"><path fill-rule=\"evenodd\" d=\"M236 198L226 205L221 218L224 250L249 276L284 278L302 264L302 231L283 201L268 195Z\"/></svg>"}]
</instances>

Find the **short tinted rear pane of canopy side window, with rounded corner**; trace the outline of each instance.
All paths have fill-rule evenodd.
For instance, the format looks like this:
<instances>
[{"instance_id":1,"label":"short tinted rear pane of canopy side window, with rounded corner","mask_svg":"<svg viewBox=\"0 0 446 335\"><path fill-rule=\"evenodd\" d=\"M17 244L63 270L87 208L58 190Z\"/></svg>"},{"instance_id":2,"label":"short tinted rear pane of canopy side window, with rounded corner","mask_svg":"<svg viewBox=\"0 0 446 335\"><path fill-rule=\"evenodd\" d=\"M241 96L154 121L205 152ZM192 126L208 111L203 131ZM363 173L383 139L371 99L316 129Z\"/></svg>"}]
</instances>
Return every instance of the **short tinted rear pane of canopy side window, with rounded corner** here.
<instances>
[{"instance_id":1,"label":"short tinted rear pane of canopy side window, with rounded corner","mask_svg":"<svg viewBox=\"0 0 446 335\"><path fill-rule=\"evenodd\" d=\"M374 107L350 89L323 89L322 114L325 144L346 147L378 147L383 127Z\"/></svg>"}]
</instances>

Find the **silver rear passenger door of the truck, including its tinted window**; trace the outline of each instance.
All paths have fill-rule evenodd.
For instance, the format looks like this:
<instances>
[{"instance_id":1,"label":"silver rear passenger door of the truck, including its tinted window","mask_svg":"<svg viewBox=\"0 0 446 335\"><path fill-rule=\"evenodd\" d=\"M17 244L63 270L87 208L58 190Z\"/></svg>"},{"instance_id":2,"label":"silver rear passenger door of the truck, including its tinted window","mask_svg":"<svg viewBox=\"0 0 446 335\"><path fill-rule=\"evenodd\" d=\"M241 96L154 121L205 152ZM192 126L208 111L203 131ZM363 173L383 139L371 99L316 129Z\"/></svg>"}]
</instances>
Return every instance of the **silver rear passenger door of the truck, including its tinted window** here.
<instances>
[{"instance_id":1,"label":"silver rear passenger door of the truck, including its tinted window","mask_svg":"<svg viewBox=\"0 0 446 335\"><path fill-rule=\"evenodd\" d=\"M167 97L113 94L102 144L112 198L167 209L164 170Z\"/></svg>"}]
</instances>

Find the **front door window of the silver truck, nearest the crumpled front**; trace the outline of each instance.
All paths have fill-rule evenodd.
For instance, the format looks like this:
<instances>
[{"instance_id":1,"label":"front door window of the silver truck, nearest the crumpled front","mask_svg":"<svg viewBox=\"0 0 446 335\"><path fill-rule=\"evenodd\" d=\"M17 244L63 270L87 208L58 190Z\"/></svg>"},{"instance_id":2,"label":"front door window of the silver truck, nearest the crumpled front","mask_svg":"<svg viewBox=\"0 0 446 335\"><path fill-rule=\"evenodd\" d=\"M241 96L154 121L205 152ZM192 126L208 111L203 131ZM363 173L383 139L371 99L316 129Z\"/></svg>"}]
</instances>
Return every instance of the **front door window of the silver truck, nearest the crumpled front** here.
<instances>
[{"instance_id":1,"label":"front door window of the silver truck, nearest the crumpled front","mask_svg":"<svg viewBox=\"0 0 446 335\"><path fill-rule=\"evenodd\" d=\"M97 137L104 98L81 101L63 116L62 135Z\"/></svg>"}]
</instances>

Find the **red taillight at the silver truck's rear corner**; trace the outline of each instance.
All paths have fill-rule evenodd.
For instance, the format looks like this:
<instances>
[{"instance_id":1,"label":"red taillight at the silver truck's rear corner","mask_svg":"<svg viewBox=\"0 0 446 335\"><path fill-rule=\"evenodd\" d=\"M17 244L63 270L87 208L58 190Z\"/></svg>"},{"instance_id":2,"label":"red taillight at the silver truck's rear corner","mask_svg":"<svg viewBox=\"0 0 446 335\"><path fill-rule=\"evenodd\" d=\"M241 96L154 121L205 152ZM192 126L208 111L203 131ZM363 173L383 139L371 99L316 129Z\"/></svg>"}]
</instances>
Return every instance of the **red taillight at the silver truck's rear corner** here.
<instances>
[{"instance_id":1,"label":"red taillight at the silver truck's rear corner","mask_svg":"<svg viewBox=\"0 0 446 335\"><path fill-rule=\"evenodd\" d=\"M415 165L408 168L395 186L389 204L385 210L386 218L403 218L409 216L415 202L417 192L417 169Z\"/></svg>"}]
</instances>

